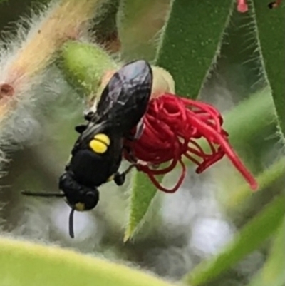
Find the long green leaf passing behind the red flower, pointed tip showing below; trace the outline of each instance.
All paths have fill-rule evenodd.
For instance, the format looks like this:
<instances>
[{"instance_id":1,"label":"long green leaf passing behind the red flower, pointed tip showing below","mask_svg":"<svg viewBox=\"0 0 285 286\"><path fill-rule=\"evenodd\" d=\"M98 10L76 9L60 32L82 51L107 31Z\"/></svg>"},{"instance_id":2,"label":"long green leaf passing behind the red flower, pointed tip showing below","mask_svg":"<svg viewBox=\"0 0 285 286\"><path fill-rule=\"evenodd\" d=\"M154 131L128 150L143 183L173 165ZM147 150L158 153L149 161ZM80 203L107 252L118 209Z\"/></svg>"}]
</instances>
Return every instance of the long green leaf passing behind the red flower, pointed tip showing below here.
<instances>
[{"instance_id":1,"label":"long green leaf passing behind the red flower, pointed tip showing below","mask_svg":"<svg viewBox=\"0 0 285 286\"><path fill-rule=\"evenodd\" d=\"M232 0L172 1L155 66L161 66L171 73L177 94L189 98L197 98L199 95L202 83L219 51L232 4ZM160 176L160 183L163 178ZM145 174L133 172L125 240L132 237L142 225L156 191Z\"/></svg>"}]
</instances>

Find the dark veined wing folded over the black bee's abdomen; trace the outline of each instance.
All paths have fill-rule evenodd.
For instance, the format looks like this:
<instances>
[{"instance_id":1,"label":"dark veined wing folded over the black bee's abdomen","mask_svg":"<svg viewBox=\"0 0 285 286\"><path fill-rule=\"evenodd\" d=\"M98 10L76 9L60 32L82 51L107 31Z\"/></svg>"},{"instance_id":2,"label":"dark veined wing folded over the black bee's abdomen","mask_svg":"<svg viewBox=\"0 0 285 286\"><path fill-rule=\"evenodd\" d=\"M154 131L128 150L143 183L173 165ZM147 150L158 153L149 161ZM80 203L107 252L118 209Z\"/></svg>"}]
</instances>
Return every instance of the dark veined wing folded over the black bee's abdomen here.
<instances>
[{"instance_id":1,"label":"dark veined wing folded over the black bee's abdomen","mask_svg":"<svg viewBox=\"0 0 285 286\"><path fill-rule=\"evenodd\" d=\"M112 133L127 133L145 114L151 89L150 64L143 60L126 64L104 88L91 121L103 124Z\"/></svg>"}]
</instances>

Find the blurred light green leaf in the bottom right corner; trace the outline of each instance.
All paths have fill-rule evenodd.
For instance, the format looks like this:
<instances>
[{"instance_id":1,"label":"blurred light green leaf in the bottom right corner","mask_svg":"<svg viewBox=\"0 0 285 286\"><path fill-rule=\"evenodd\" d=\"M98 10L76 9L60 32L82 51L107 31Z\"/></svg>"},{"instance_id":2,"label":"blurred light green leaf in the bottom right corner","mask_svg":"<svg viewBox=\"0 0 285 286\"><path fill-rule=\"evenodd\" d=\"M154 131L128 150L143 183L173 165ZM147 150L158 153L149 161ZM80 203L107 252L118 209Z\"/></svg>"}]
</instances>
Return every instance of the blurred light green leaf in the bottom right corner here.
<instances>
[{"instance_id":1,"label":"blurred light green leaf in the bottom right corner","mask_svg":"<svg viewBox=\"0 0 285 286\"><path fill-rule=\"evenodd\" d=\"M261 272L248 286L284 286L285 285L285 218L276 232L271 252Z\"/></svg>"}]
</instances>

